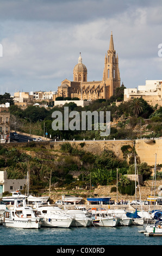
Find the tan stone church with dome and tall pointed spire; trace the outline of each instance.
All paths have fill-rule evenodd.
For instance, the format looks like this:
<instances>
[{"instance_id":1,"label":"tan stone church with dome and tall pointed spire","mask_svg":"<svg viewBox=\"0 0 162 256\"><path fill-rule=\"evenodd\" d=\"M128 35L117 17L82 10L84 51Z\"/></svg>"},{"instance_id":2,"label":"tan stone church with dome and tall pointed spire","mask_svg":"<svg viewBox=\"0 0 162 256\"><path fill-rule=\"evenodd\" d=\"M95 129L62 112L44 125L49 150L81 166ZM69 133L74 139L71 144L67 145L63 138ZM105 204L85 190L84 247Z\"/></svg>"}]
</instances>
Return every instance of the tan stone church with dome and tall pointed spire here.
<instances>
[{"instance_id":1,"label":"tan stone church with dome and tall pointed spire","mask_svg":"<svg viewBox=\"0 0 162 256\"><path fill-rule=\"evenodd\" d=\"M65 79L58 87L57 97L79 98L79 100L94 101L97 99L109 99L120 87L119 59L114 49L113 34L111 32L110 45L104 58L102 81L87 81L88 70L82 62L81 53L78 63L73 69L73 81Z\"/></svg>"}]
</instances>

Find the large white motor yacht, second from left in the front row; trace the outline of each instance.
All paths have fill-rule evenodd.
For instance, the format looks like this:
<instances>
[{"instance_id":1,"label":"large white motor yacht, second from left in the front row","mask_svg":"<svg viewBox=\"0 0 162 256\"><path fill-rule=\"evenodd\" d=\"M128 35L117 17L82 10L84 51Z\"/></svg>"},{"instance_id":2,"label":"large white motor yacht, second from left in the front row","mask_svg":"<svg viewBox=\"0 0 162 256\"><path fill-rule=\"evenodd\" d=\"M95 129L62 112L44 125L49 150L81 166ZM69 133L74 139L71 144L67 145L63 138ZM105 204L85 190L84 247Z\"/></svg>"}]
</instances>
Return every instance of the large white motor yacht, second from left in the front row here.
<instances>
[{"instance_id":1,"label":"large white motor yacht, second from left in the front row","mask_svg":"<svg viewBox=\"0 0 162 256\"><path fill-rule=\"evenodd\" d=\"M73 218L58 206L40 205L36 208L36 214L43 217L42 227L69 228L73 221Z\"/></svg>"}]
</instances>

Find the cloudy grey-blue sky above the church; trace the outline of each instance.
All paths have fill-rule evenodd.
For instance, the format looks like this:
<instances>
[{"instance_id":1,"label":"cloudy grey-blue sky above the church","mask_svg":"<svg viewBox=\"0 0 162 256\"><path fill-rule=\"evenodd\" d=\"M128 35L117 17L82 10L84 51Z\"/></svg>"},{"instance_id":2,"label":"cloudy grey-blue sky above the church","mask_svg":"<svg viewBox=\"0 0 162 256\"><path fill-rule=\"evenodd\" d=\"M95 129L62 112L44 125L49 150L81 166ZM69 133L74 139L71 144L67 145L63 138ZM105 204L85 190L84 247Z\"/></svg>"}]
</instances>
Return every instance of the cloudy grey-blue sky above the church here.
<instances>
[{"instance_id":1,"label":"cloudy grey-blue sky above the church","mask_svg":"<svg viewBox=\"0 0 162 256\"><path fill-rule=\"evenodd\" d=\"M161 13L161 0L0 0L0 94L57 91L80 52L101 81L111 31L126 88L161 80Z\"/></svg>"}]
</instances>

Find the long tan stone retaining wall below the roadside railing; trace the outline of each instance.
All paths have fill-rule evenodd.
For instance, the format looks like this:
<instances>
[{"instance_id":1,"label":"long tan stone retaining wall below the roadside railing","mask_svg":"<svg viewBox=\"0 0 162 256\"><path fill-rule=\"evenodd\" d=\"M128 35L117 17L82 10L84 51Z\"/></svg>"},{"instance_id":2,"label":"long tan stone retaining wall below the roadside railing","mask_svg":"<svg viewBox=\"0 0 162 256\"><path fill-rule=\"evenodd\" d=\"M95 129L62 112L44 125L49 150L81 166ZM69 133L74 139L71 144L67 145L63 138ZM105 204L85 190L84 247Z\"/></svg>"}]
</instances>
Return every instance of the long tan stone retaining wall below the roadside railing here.
<instances>
[{"instance_id":1,"label":"long tan stone retaining wall below the roadside railing","mask_svg":"<svg viewBox=\"0 0 162 256\"><path fill-rule=\"evenodd\" d=\"M84 142L84 147L80 147L80 143ZM30 142L31 143L31 142ZM3 147L28 147L30 143L8 143L1 144ZM32 142L33 143L33 142ZM85 151L91 152L93 154L101 154L104 149L111 150L114 154L123 160L123 153L121 147L123 145L130 145L134 147L136 153L139 156L140 162L146 162L149 166L154 166L155 164L155 154L157 154L157 164L162 164L162 139L154 139L151 143L148 143L146 139L136 139L135 141L124 141L124 140L113 140L113 141L56 141L56 142L34 142L36 147L43 147L46 149L53 149L59 151L63 143L70 143L78 149L83 149Z\"/></svg>"}]
</instances>

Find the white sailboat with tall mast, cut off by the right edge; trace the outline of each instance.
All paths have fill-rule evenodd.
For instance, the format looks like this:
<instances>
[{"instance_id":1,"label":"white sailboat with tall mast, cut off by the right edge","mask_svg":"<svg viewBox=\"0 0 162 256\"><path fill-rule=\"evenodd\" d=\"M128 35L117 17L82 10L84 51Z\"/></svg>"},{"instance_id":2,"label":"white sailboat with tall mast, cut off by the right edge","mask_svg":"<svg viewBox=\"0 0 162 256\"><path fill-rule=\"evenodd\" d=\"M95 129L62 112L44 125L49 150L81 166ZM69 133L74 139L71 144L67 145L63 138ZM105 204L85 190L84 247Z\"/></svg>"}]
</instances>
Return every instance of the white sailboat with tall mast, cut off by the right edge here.
<instances>
[{"instance_id":1,"label":"white sailboat with tall mast, cut off by the right edge","mask_svg":"<svg viewBox=\"0 0 162 256\"><path fill-rule=\"evenodd\" d=\"M156 186L156 168L157 168L157 154L155 154L155 167L154 167L154 211L153 211L153 224L147 223L146 225L146 230L144 234L146 236L159 236L162 235L162 212L161 211L156 211L155 210L155 186ZM153 181L152 181L152 187L153 187Z\"/></svg>"}]
</instances>

